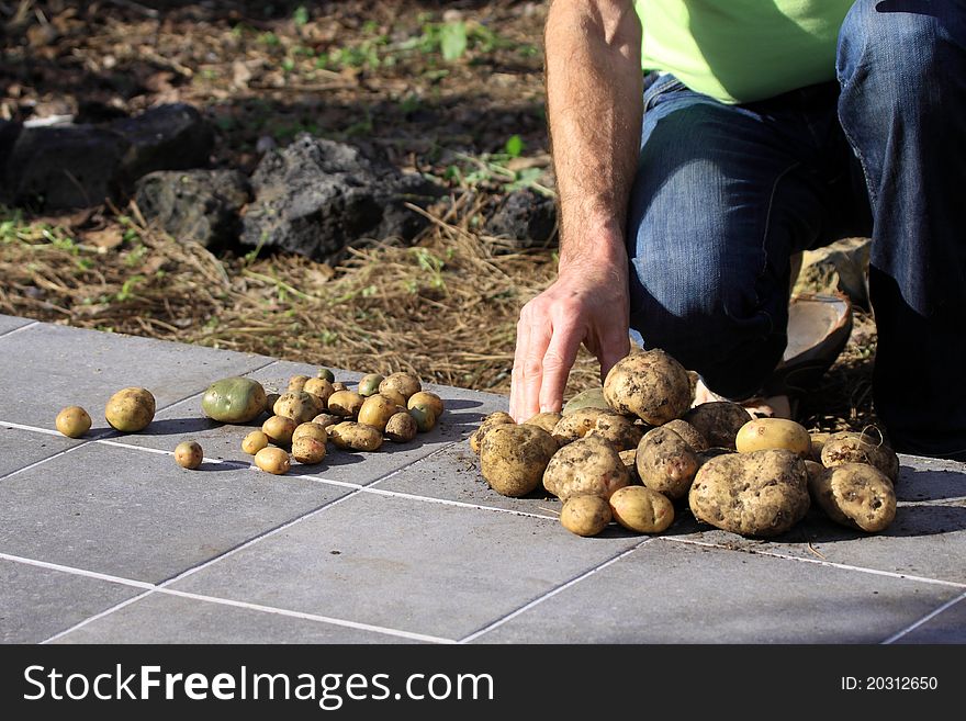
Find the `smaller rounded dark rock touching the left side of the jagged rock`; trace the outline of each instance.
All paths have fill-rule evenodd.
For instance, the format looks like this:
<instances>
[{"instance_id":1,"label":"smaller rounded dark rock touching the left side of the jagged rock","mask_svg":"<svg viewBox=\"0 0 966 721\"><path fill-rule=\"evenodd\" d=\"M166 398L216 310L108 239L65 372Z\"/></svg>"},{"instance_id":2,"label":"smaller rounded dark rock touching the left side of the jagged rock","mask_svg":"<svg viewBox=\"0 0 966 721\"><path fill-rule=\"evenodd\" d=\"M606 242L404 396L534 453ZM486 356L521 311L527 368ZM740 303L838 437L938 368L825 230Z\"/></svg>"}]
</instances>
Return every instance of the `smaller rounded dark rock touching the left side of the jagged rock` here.
<instances>
[{"instance_id":1,"label":"smaller rounded dark rock touching the left side of the jagged rock","mask_svg":"<svg viewBox=\"0 0 966 721\"><path fill-rule=\"evenodd\" d=\"M220 250L237 241L250 193L237 170L157 170L137 181L134 200L172 238Z\"/></svg>"}]
</instances>

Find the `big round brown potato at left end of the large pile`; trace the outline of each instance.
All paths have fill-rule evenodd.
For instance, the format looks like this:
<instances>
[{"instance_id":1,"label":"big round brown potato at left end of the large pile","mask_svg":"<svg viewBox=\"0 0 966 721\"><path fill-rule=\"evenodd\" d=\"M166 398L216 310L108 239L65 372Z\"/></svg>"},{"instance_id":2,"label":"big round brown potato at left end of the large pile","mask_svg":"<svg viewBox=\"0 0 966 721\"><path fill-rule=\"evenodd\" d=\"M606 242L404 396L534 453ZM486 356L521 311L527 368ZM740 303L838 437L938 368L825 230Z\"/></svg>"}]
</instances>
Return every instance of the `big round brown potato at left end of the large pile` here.
<instances>
[{"instance_id":1,"label":"big round brown potato at left end of the large pile","mask_svg":"<svg viewBox=\"0 0 966 721\"><path fill-rule=\"evenodd\" d=\"M483 438L480 470L496 493L525 496L539 487L557 448L553 436L538 426L499 424Z\"/></svg>"}]
</instances>

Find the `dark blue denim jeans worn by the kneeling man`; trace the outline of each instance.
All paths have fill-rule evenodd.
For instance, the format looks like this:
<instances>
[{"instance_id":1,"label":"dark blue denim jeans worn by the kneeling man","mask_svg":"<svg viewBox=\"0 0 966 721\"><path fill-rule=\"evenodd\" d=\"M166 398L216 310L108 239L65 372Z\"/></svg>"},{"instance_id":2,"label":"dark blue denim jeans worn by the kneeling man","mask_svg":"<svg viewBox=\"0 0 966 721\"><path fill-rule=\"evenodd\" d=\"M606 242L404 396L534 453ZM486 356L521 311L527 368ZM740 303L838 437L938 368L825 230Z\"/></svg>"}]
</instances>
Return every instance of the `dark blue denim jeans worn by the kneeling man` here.
<instances>
[{"instance_id":1,"label":"dark blue denim jeans worn by the kneeling man","mask_svg":"<svg viewBox=\"0 0 966 721\"><path fill-rule=\"evenodd\" d=\"M648 78L631 329L753 395L785 349L790 256L870 236L876 413L896 450L966 460L966 2L857 0L836 74L741 105Z\"/></svg>"}]
</instances>

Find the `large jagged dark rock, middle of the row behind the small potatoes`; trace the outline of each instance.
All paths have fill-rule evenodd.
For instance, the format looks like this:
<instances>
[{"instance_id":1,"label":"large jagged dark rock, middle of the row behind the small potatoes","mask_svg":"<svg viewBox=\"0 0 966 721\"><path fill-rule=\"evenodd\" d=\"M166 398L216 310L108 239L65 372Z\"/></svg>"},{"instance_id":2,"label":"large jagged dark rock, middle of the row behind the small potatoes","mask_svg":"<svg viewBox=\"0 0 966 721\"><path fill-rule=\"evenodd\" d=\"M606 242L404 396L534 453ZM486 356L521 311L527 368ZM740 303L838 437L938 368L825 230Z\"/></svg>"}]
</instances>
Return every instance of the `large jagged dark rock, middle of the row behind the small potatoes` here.
<instances>
[{"instance_id":1,"label":"large jagged dark rock, middle of the row behind the small potatoes","mask_svg":"<svg viewBox=\"0 0 966 721\"><path fill-rule=\"evenodd\" d=\"M443 193L358 148L308 134L267 153L251 182L255 201L244 213L242 244L324 262L360 240L413 240L427 221L405 203L426 207Z\"/></svg>"}]
</instances>

